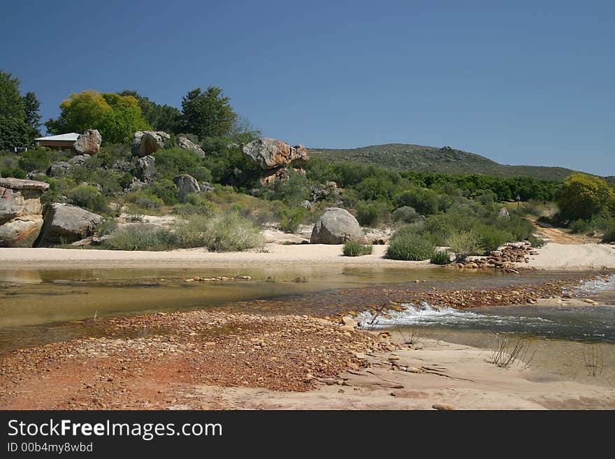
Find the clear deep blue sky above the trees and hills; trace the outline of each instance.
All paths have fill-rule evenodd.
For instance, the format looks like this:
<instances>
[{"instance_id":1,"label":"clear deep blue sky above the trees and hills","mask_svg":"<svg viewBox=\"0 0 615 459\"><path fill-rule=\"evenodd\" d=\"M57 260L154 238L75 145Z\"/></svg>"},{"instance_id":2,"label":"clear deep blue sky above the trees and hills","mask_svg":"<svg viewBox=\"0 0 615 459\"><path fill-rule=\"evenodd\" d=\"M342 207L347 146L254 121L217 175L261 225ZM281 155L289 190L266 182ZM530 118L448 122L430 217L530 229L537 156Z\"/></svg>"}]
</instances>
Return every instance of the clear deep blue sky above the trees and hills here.
<instances>
[{"instance_id":1,"label":"clear deep blue sky above the trees and hills","mask_svg":"<svg viewBox=\"0 0 615 459\"><path fill-rule=\"evenodd\" d=\"M180 107L222 87L264 136L460 148L615 175L614 1L18 1L0 69L43 120L71 92Z\"/></svg>"}]
</instances>

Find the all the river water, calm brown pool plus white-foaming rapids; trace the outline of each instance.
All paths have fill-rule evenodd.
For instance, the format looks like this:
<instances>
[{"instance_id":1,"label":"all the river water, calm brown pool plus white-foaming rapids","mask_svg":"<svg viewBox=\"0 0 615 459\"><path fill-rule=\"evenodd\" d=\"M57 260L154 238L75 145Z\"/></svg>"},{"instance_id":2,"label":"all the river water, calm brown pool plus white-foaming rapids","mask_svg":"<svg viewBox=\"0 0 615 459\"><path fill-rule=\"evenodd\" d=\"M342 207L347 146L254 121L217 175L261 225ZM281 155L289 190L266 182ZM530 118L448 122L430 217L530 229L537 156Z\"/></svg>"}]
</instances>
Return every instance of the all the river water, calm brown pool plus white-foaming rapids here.
<instances>
[{"instance_id":1,"label":"all the river water, calm brown pool plus white-foaming rapids","mask_svg":"<svg viewBox=\"0 0 615 459\"><path fill-rule=\"evenodd\" d=\"M186 282L191 277L250 280ZM383 291L489 289L575 277L570 272L460 272L451 269L303 267L243 270L79 269L0 270L0 353L20 347L107 335L112 316L224 306L261 314L332 314L386 301ZM424 282L415 282L416 280ZM615 276L585 282L584 296L615 304ZM234 309L233 309L234 308ZM370 319L365 313L363 323ZM375 327L421 333L484 349L502 337L530 340L536 360L551 376L588 378L583 354L599 346L603 370L591 381L615 386L615 307L493 307L459 311L437 305L407 305L378 318ZM395 331L396 330L396 331ZM593 344L591 344L593 343ZM536 377L536 376L534 376ZM543 376L545 377L545 376Z\"/></svg>"}]
</instances>

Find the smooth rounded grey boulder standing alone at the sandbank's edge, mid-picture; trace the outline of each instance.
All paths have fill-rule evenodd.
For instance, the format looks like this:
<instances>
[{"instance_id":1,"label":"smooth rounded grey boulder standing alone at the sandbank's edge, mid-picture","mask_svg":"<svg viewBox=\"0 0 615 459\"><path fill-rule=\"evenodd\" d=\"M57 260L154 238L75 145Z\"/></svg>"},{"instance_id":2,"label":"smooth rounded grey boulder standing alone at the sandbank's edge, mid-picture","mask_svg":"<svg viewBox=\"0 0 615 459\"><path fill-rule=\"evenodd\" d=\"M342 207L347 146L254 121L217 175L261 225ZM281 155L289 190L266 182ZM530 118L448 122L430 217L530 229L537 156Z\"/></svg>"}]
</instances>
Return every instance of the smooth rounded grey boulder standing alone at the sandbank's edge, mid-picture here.
<instances>
[{"instance_id":1,"label":"smooth rounded grey boulder standing alone at the sandbank's edge, mid-picture","mask_svg":"<svg viewBox=\"0 0 615 459\"><path fill-rule=\"evenodd\" d=\"M344 244L365 242L365 233L359 222L347 210L329 207L312 228L312 244Z\"/></svg>"}]
</instances>

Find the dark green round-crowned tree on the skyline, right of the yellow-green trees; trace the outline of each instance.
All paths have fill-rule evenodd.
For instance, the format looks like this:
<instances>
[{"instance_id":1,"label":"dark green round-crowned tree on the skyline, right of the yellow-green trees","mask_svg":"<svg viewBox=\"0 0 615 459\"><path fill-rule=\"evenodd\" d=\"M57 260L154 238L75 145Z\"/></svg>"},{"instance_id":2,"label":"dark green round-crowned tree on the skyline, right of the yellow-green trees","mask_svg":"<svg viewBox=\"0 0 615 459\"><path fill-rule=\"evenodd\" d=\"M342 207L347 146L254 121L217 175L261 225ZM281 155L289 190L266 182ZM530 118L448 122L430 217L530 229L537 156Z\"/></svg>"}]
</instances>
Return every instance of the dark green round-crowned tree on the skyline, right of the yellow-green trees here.
<instances>
[{"instance_id":1,"label":"dark green round-crowned tree on the skyline, right of the yellow-green trees","mask_svg":"<svg viewBox=\"0 0 615 459\"><path fill-rule=\"evenodd\" d=\"M182 98L183 130L201 139L229 137L237 114L222 95L222 89L210 86L205 92L193 89Z\"/></svg>"}]
</instances>

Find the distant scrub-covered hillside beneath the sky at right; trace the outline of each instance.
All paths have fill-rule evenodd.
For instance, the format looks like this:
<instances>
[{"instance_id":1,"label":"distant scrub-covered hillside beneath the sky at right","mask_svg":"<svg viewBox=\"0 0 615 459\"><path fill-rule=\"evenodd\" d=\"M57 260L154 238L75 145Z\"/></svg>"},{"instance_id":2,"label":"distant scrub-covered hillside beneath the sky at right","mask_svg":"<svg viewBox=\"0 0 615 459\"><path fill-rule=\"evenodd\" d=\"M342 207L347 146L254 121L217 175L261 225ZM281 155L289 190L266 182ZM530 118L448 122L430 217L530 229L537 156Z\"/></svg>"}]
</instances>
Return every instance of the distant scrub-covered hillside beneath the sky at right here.
<instances>
[{"instance_id":1,"label":"distant scrub-covered hillside beneath the sky at right","mask_svg":"<svg viewBox=\"0 0 615 459\"><path fill-rule=\"evenodd\" d=\"M445 174L482 174L491 177L515 177L519 175L537 179L563 180L574 172L566 168L547 166L505 166L475 153L455 150L451 147L425 147L390 143L354 148L352 150L327 150L312 148L310 156L328 161L356 161L386 168L435 172Z\"/></svg>"}]
</instances>

